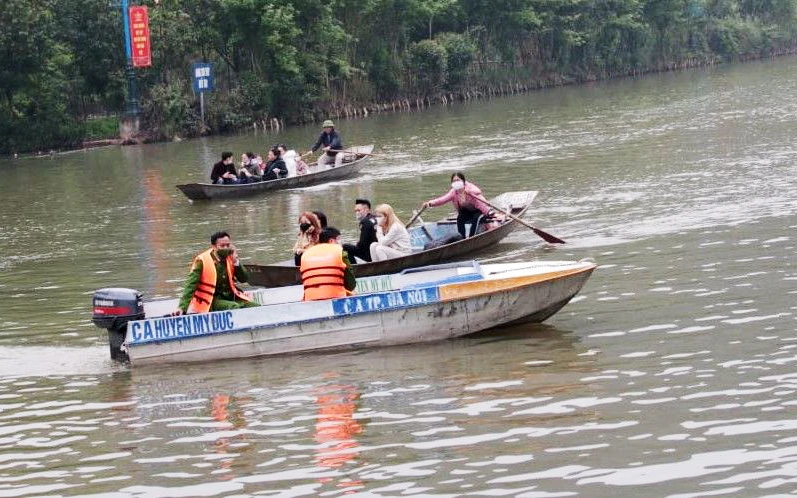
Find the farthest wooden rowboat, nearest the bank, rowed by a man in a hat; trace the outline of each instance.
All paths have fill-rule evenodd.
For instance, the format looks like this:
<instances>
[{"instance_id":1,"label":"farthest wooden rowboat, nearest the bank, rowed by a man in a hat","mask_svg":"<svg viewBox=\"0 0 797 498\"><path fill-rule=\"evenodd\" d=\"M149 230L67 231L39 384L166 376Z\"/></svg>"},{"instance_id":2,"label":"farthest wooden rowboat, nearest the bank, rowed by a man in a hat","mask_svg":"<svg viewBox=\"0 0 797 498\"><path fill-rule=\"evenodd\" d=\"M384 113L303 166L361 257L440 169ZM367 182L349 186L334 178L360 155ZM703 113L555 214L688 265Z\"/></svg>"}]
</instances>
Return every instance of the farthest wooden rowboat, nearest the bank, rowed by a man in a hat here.
<instances>
[{"instance_id":1,"label":"farthest wooden rowboat, nearest the bank, rowed by a man in a hat","mask_svg":"<svg viewBox=\"0 0 797 498\"><path fill-rule=\"evenodd\" d=\"M183 185L177 185L177 188L180 189L180 191L192 201L199 201L224 199L230 197L245 197L271 190L309 187L310 185L318 185L320 183L327 183L353 176L359 172L363 166L365 166L365 161L368 159L368 157L370 157L372 150L374 150L373 145L350 147L345 149L346 155L344 156L342 166L337 168L329 168L316 173L308 173L306 175L291 176L288 178L280 178L267 182L239 183L235 185L186 183ZM313 170L315 164L316 163L310 165L311 171Z\"/></svg>"}]
</instances>

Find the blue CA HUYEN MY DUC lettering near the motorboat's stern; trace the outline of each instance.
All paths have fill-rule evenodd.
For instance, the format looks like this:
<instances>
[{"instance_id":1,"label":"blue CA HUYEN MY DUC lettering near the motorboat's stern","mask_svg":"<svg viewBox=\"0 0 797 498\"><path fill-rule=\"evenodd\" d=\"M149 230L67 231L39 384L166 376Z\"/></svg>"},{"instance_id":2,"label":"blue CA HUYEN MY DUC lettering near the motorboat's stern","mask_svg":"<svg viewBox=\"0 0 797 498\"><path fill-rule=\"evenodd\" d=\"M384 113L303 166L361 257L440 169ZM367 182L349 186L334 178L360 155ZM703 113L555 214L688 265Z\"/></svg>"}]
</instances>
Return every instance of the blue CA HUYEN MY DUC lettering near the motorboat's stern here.
<instances>
[{"instance_id":1,"label":"blue CA HUYEN MY DUC lettering near the motorboat's stern","mask_svg":"<svg viewBox=\"0 0 797 498\"><path fill-rule=\"evenodd\" d=\"M143 322L130 323L133 344L216 334L234 328L235 321L231 311L153 318Z\"/></svg>"}]
</instances>

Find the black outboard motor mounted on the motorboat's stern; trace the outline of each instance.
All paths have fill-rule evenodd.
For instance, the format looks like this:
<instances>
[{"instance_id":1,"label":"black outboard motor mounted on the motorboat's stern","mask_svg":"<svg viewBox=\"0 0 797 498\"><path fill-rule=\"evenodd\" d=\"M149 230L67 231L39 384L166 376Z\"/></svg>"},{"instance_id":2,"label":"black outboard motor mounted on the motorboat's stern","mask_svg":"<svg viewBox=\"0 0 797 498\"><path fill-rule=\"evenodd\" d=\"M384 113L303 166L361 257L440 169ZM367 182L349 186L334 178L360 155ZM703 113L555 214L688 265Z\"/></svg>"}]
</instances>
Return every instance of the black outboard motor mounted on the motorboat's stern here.
<instances>
[{"instance_id":1,"label":"black outboard motor mounted on the motorboat's stern","mask_svg":"<svg viewBox=\"0 0 797 498\"><path fill-rule=\"evenodd\" d=\"M135 289L110 287L94 292L92 299L94 325L108 329L111 359L130 361L122 349L127 333L127 322L144 318L144 297Z\"/></svg>"}]
</instances>

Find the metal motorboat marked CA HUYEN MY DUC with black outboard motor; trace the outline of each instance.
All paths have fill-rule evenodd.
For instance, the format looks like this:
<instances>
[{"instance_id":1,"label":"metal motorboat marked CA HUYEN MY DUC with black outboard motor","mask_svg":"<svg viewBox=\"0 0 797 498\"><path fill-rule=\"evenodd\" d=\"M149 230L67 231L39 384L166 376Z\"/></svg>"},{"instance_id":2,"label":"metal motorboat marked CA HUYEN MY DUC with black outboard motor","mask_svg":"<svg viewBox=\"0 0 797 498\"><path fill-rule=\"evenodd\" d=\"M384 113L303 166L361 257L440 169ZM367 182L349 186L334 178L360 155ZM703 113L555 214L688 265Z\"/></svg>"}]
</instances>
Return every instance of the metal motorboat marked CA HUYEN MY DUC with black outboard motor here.
<instances>
[{"instance_id":1,"label":"metal motorboat marked CA HUYEN MY DUC with black outboard motor","mask_svg":"<svg viewBox=\"0 0 797 498\"><path fill-rule=\"evenodd\" d=\"M436 265L362 279L350 297L301 301L301 286L258 289L260 307L182 316L163 316L176 300L145 307L135 290L100 289L94 322L108 329L112 354L117 347L134 365L411 344L541 322L595 268L589 261Z\"/></svg>"}]
</instances>

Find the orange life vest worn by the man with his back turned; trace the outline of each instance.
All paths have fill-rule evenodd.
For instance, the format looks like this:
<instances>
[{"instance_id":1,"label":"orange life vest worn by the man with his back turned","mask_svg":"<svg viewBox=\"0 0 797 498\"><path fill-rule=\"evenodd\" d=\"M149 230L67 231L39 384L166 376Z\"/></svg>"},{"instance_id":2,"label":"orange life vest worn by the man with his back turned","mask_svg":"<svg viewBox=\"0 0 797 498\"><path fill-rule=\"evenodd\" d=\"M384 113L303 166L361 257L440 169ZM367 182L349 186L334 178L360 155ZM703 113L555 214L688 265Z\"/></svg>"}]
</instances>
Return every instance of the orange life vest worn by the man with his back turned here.
<instances>
[{"instance_id":1,"label":"orange life vest worn by the man with his back turned","mask_svg":"<svg viewBox=\"0 0 797 498\"><path fill-rule=\"evenodd\" d=\"M304 300L317 301L348 295L344 286L346 264L338 244L316 244L304 251L299 267L304 286Z\"/></svg>"}]
</instances>

